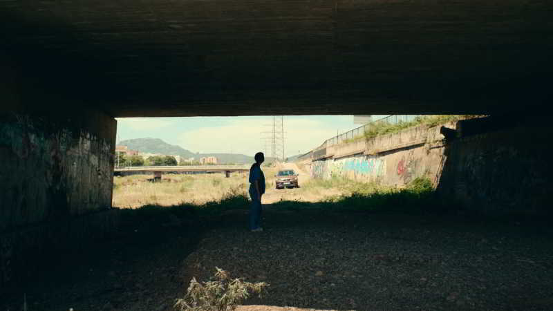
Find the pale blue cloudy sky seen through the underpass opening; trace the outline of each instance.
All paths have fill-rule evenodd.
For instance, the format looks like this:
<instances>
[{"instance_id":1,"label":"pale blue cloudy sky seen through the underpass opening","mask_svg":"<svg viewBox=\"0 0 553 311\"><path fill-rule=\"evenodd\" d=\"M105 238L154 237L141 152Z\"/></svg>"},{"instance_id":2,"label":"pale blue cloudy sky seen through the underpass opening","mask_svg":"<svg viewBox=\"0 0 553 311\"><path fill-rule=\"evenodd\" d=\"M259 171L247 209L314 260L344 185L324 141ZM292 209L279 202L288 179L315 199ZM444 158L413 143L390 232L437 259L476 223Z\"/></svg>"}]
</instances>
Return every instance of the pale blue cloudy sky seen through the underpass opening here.
<instances>
[{"instance_id":1,"label":"pale blue cloudy sky seen through the underpass opening","mask_svg":"<svg viewBox=\"0 0 553 311\"><path fill-rule=\"evenodd\" d=\"M272 131L272 116L254 117L123 117L117 118L117 140L160 138L194 153L265 151ZM306 153L328 138L355 129L353 115L284 116L285 156ZM268 154L270 156L270 154Z\"/></svg>"}]
</instances>

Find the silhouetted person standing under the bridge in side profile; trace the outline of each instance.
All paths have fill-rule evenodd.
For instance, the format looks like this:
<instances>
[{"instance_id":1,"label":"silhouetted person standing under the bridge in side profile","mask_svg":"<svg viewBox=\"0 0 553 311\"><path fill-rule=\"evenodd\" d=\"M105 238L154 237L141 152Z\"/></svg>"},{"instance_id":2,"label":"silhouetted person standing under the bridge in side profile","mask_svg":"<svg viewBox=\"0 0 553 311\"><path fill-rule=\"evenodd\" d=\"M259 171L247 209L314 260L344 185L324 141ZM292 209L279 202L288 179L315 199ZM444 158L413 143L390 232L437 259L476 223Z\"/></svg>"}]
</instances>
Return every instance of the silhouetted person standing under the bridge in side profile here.
<instances>
[{"instance_id":1,"label":"silhouetted person standing under the bridge in side profile","mask_svg":"<svg viewBox=\"0 0 553 311\"><path fill-rule=\"evenodd\" d=\"M265 194L265 176L261 171L261 163L265 161L263 152L255 154L255 163L250 167L250 198L252 206L250 207L250 230L252 232L261 232L261 196Z\"/></svg>"}]
</instances>

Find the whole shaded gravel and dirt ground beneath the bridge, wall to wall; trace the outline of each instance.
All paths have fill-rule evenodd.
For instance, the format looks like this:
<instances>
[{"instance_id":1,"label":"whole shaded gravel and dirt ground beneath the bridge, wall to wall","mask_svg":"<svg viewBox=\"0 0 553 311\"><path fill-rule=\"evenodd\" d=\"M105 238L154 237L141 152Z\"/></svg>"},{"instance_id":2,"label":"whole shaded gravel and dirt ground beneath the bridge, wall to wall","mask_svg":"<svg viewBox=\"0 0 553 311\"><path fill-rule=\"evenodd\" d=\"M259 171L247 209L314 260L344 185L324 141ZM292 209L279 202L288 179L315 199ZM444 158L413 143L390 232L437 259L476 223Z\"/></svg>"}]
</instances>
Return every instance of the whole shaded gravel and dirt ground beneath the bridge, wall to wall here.
<instances>
[{"instance_id":1,"label":"whole shaded gravel and dirt ground beneath the bridge, wall to wall","mask_svg":"<svg viewBox=\"0 0 553 311\"><path fill-rule=\"evenodd\" d=\"M271 284L241 310L553 310L545 222L268 208L252 233L246 220L232 211L91 247L0 296L0 310L21 310L23 293L33 311L171 310L216 266Z\"/></svg>"}]
</instances>

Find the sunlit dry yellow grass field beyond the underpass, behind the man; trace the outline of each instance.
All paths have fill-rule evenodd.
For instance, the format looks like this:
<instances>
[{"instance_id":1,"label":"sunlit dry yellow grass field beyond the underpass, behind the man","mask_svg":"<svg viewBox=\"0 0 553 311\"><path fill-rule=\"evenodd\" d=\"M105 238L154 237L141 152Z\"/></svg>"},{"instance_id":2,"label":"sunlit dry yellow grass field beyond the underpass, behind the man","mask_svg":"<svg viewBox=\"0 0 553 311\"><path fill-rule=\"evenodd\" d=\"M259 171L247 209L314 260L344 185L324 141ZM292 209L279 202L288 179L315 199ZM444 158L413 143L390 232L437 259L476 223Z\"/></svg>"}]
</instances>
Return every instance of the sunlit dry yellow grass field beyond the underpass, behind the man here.
<instances>
[{"instance_id":1,"label":"sunlit dry yellow grass field beyond the underpass, behind the man","mask_svg":"<svg viewBox=\"0 0 553 311\"><path fill-rule=\"evenodd\" d=\"M286 202L332 203L347 200L348 206L366 204L365 198L397 197L406 189L383 187L375 183L356 182L343 178L330 180L308 179L299 189L274 189L274 174L278 169L264 167L267 193L264 204L277 204L285 207ZM247 194L250 183L248 174L232 173L225 178L222 173L213 174L164 174L162 181L151 182L151 175L134 175L114 178L113 207L135 209L156 205L169 207L176 205L195 205L202 207L230 202L238 208L247 208ZM413 182L408 187L409 194L432 191L429 180ZM237 200L239 199L239 200ZM239 203L239 204L238 204ZM242 206L243 205L243 206Z\"/></svg>"}]
</instances>

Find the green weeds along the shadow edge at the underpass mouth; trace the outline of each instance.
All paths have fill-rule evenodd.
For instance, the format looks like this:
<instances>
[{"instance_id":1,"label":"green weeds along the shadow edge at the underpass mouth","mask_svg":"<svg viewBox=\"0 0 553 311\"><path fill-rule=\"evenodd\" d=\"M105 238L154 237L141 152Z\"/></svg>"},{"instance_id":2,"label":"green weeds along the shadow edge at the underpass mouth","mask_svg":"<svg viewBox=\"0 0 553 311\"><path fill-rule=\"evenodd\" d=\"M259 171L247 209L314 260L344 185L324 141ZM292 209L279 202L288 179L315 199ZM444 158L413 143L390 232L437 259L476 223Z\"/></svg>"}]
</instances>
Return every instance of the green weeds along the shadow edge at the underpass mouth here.
<instances>
[{"instance_id":1,"label":"green weeds along the shadow edge at the underpass mouth","mask_svg":"<svg viewBox=\"0 0 553 311\"><path fill-rule=\"evenodd\" d=\"M188 176L187 176L188 177ZM205 180L207 182L209 179ZM224 179L221 179L223 181ZM194 181L183 181L179 186L180 192L187 193ZM197 181L196 181L197 182ZM209 180L212 189L221 189L223 185L214 180ZM207 186L207 185L204 185ZM215 187L214 187L215 186ZM144 205L138 209L122 209L124 213L133 217L131 223L140 223L140 219L149 221L156 217L166 218L167 214L184 216L194 214L196 216L214 216L230 209L248 209L250 200L243 185L227 187L219 198L206 200L202 203L197 200L182 202L176 205L162 207L157 204ZM281 200L273 203L276 209L301 210L321 209L327 211L405 211L427 212L445 211L451 204L445 203L435 195L431 180L428 178L416 178L404 188L384 187L375 183L355 182L343 178L330 180L314 179L306 182L301 189L304 194L319 194L321 189L328 192L333 190L339 194L333 196L322 195L318 202L301 200ZM338 191L336 191L338 190ZM324 191L323 192L327 192ZM161 199L162 194L157 194ZM159 220L163 221L163 220Z\"/></svg>"}]
</instances>

